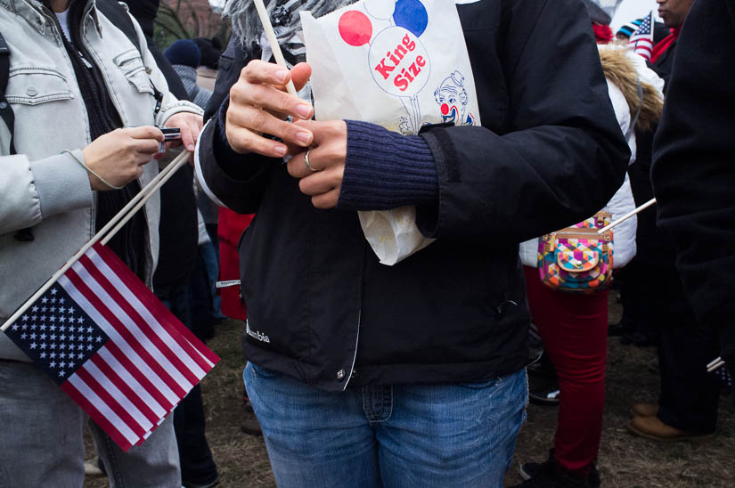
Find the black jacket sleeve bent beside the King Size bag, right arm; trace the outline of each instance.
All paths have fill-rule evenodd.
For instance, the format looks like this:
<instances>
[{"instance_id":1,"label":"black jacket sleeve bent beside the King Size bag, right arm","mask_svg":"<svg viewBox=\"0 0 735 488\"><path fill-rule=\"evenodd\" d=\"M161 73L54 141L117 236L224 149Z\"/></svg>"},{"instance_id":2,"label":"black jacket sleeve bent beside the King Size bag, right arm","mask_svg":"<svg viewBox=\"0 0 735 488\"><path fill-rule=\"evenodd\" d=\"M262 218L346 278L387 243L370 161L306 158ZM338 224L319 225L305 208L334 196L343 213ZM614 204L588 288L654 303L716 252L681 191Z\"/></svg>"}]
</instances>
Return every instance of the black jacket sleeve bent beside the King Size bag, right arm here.
<instances>
[{"instance_id":1,"label":"black jacket sleeve bent beside the King Size bag, right arm","mask_svg":"<svg viewBox=\"0 0 735 488\"><path fill-rule=\"evenodd\" d=\"M527 240L592 216L625 177L630 150L582 3L505 4L498 45L509 131L460 126L424 134L439 176L438 206L417 213L430 237ZM475 62L473 71L481 83Z\"/></svg>"}]
</instances>

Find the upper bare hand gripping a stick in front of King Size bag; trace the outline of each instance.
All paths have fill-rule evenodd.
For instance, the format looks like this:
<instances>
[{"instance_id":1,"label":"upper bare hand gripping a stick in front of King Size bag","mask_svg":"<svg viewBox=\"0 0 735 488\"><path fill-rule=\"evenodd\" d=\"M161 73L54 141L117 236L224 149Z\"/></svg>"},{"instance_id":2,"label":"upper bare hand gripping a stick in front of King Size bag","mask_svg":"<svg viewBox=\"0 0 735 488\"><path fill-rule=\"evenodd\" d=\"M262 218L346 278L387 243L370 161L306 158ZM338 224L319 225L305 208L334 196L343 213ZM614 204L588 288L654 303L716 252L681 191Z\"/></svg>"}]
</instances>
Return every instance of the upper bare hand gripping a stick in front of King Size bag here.
<instances>
[{"instance_id":1,"label":"upper bare hand gripping a stick in front of King Size bag","mask_svg":"<svg viewBox=\"0 0 735 488\"><path fill-rule=\"evenodd\" d=\"M298 63L290 71L277 64L253 60L241 70L240 79L230 89L230 105L225 116L225 134L235 152L256 152L271 158L282 158L287 144L308 147L314 136L305 127L285 119L312 118L311 104L286 93L291 80L297 90L311 77L311 67ZM274 141L265 135L278 137Z\"/></svg>"}]
</instances>

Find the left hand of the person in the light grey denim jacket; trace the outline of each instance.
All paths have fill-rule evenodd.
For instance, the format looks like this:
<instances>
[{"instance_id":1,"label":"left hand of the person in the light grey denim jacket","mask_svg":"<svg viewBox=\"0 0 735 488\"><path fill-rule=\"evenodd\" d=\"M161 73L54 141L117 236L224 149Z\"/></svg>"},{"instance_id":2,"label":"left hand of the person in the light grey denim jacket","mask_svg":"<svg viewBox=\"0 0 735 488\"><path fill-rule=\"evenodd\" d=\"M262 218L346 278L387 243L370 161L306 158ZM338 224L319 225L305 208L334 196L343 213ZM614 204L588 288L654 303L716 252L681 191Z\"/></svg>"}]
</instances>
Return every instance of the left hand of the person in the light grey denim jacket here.
<instances>
[{"instance_id":1,"label":"left hand of the person in the light grey denim jacket","mask_svg":"<svg viewBox=\"0 0 735 488\"><path fill-rule=\"evenodd\" d=\"M115 186L125 186L140 175L143 166L159 151L163 134L154 126L127 127L101 135L82 150L86 167ZM89 174L92 190L112 190Z\"/></svg>"}]
</instances>

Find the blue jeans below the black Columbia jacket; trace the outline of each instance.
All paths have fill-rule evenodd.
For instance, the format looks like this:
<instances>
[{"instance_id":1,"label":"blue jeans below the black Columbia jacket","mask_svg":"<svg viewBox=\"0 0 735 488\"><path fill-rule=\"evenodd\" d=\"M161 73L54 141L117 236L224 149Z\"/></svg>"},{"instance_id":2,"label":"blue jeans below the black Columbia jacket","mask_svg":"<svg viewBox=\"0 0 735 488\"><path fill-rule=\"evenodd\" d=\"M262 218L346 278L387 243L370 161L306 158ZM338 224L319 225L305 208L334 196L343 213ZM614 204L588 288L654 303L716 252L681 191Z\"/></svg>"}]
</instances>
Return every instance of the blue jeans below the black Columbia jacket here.
<instances>
[{"instance_id":1,"label":"blue jeans below the black Columbia jacket","mask_svg":"<svg viewBox=\"0 0 735 488\"><path fill-rule=\"evenodd\" d=\"M526 370L338 393L251 362L243 378L280 488L502 488L526 419Z\"/></svg>"}]
</instances>

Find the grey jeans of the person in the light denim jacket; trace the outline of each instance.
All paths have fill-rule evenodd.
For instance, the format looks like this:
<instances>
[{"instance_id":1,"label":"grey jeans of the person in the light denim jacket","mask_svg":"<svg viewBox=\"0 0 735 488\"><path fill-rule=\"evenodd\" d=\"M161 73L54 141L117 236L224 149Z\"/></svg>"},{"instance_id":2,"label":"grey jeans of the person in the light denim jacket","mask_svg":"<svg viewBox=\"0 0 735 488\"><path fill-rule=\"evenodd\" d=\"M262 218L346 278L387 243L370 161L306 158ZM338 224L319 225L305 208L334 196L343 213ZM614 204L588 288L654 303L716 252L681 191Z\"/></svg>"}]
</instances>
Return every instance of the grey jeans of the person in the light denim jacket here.
<instances>
[{"instance_id":1,"label":"grey jeans of the person in the light denim jacket","mask_svg":"<svg viewBox=\"0 0 735 488\"><path fill-rule=\"evenodd\" d=\"M111 488L181 488L171 417L123 452L35 364L0 361L0 487L82 486L88 425Z\"/></svg>"}]
</instances>

